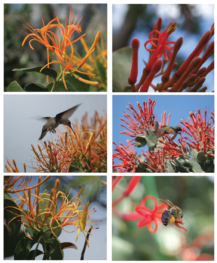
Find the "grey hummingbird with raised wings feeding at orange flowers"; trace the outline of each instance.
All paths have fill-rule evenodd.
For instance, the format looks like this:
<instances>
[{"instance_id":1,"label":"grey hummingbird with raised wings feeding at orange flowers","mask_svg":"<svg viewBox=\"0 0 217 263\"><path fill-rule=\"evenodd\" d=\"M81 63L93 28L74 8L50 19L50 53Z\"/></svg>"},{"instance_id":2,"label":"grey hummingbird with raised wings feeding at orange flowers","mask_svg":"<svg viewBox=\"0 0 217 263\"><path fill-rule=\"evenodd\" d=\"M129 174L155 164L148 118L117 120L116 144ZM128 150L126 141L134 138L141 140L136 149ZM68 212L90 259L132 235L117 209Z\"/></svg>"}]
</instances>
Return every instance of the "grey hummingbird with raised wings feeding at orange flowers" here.
<instances>
[{"instance_id":1,"label":"grey hummingbird with raised wings feeding at orange flowers","mask_svg":"<svg viewBox=\"0 0 217 263\"><path fill-rule=\"evenodd\" d=\"M55 128L57 128L60 124L69 126L72 129L71 122L68 118L72 116L72 114L77 110L77 108L81 104L74 106L71 109L68 109L65 112L60 112L55 117L43 117L42 119L47 119L48 121L44 124L41 136L39 137L39 140L43 139L46 135L47 131L52 131L52 133L55 133ZM73 129L72 129L73 130Z\"/></svg>"}]
</instances>

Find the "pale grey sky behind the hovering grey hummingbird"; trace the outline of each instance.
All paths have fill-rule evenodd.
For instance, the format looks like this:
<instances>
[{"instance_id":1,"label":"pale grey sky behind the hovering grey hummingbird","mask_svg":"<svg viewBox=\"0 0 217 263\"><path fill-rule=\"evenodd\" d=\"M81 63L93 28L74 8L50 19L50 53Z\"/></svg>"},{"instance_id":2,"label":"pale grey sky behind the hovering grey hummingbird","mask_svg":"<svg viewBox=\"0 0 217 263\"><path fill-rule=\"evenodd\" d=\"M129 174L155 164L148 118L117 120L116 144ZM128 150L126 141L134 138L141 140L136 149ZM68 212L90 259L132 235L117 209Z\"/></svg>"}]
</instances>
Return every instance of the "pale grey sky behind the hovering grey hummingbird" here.
<instances>
[{"instance_id":1,"label":"pale grey sky behind the hovering grey hummingbird","mask_svg":"<svg viewBox=\"0 0 217 263\"><path fill-rule=\"evenodd\" d=\"M4 95L4 171L5 163L8 158L11 162L13 159L16 161L20 172L24 172L23 163L26 166L32 167L32 163L28 162L33 160L35 156L31 150L31 144L38 150L38 141L43 125L46 120L40 120L40 117L54 117L60 112L74 107L77 104L81 106L69 118L71 123L75 118L81 120L84 113L88 112L89 119L93 117L95 109L98 110L100 116L105 116L107 109L107 96L106 95L77 95L60 93L58 95L32 95L29 93L22 93L11 95L9 93ZM66 129L63 125L58 128L65 132ZM56 129L56 132L58 131ZM56 133L57 134L57 133ZM58 137L52 133L53 140ZM51 140L51 133L48 132L43 141ZM38 150L39 151L39 150ZM31 155L31 156L30 156ZM32 172L28 168L27 172Z\"/></svg>"}]
</instances>

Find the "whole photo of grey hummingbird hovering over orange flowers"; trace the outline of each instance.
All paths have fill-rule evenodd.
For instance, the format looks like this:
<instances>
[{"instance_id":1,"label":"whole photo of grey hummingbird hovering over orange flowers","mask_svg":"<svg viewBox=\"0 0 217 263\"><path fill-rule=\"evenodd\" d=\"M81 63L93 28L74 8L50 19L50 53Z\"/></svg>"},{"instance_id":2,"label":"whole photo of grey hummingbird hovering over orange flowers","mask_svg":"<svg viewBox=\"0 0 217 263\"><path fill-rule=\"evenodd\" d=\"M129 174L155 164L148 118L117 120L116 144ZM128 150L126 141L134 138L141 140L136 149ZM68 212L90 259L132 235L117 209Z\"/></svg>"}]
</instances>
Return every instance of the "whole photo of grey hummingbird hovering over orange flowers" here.
<instances>
[{"instance_id":1,"label":"whole photo of grey hummingbird hovering over orange flowers","mask_svg":"<svg viewBox=\"0 0 217 263\"><path fill-rule=\"evenodd\" d=\"M107 95L4 95L4 172L107 172Z\"/></svg>"}]
</instances>

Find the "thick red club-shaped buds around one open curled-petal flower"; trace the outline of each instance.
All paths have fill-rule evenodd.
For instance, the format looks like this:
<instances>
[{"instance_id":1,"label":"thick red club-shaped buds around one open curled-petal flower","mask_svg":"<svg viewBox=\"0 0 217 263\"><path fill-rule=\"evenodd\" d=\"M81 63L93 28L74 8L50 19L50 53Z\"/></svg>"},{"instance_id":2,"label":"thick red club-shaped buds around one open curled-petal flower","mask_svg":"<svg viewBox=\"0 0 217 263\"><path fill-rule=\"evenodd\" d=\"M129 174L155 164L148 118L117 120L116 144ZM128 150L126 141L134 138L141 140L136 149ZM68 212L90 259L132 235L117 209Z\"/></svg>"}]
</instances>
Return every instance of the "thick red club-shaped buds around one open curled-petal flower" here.
<instances>
[{"instance_id":1,"label":"thick red club-shaped buds around one open curled-petal flower","mask_svg":"<svg viewBox=\"0 0 217 263\"><path fill-rule=\"evenodd\" d=\"M184 90L188 92L206 91L206 86L203 88L201 87L206 80L207 74L214 69L214 60L207 68L202 66L204 62L214 54L214 40L206 47L202 57L199 57L199 55L214 35L214 23L211 26L211 29L203 34L196 48L171 77L171 72L177 66L177 63L175 62L176 55L183 42L182 37L177 39L176 42L167 41L169 36L176 30L176 26L177 23L170 22L168 28L161 33L162 18L158 18L158 20L154 22L153 30L149 34L149 40L144 44L145 49L150 52L150 58L146 63L146 67L143 69L143 75L139 83L136 85L135 83L138 75L139 40L137 38L132 40L133 60L131 75L128 79L132 91L147 92L150 86L154 91L159 92L182 92ZM152 45L151 48L147 48L148 43ZM174 46L169 46L168 44ZM173 50L173 53L171 50ZM167 55L167 52L169 55ZM162 55L164 55L163 61L160 59ZM164 70L166 62L168 61L168 66ZM157 86L153 85L153 79L160 75L162 75L162 83L158 83Z\"/></svg>"}]
</instances>

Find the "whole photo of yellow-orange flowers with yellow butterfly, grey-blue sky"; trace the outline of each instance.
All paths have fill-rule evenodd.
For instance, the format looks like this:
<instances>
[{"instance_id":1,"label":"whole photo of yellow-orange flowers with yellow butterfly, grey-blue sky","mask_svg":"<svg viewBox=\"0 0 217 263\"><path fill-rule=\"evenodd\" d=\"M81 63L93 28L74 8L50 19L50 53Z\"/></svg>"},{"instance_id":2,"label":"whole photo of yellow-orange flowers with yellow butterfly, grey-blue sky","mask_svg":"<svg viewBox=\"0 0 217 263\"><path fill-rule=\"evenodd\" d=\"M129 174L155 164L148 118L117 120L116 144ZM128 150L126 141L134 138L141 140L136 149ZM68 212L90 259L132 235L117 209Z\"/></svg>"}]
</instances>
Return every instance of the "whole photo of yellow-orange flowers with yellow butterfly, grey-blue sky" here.
<instances>
[{"instance_id":1,"label":"whole photo of yellow-orange flowers with yellow butterfly, grey-blue sky","mask_svg":"<svg viewBox=\"0 0 217 263\"><path fill-rule=\"evenodd\" d=\"M106 260L106 176L4 177L4 259Z\"/></svg>"}]
</instances>

